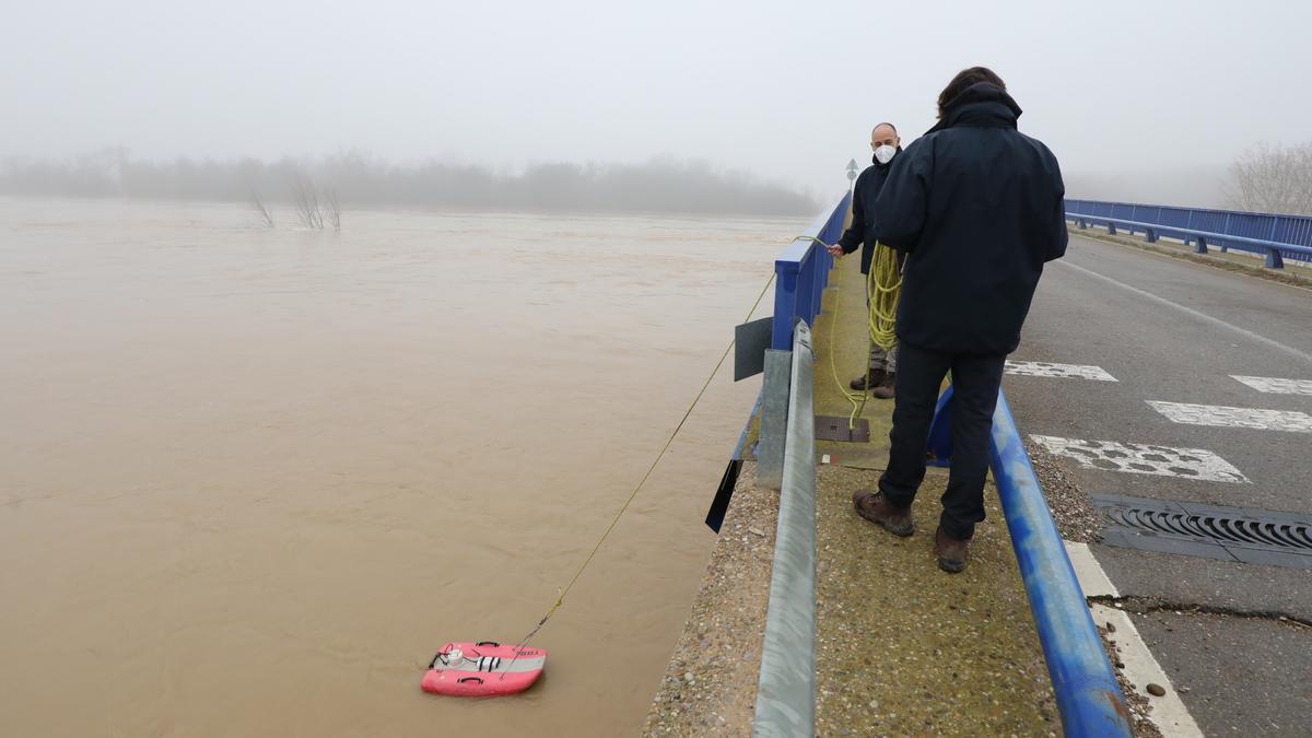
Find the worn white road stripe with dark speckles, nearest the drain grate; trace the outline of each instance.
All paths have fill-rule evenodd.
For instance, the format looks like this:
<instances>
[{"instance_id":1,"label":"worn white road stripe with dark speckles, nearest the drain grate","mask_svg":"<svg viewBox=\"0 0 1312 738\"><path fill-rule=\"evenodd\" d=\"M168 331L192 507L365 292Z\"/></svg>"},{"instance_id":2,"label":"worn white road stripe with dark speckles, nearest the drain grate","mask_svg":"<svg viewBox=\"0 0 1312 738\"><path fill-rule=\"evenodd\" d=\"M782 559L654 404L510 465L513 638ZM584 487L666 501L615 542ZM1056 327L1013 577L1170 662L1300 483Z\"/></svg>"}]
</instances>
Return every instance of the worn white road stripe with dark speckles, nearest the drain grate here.
<instances>
[{"instance_id":1,"label":"worn white road stripe with dark speckles, nearest the drain grate","mask_svg":"<svg viewBox=\"0 0 1312 738\"><path fill-rule=\"evenodd\" d=\"M1117 441L1085 441L1057 436L1030 436L1050 452L1073 458L1085 469L1181 477L1206 482L1248 483L1248 478L1228 461L1210 450L1169 448Z\"/></svg>"}]
</instances>

